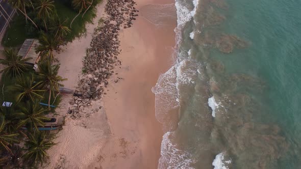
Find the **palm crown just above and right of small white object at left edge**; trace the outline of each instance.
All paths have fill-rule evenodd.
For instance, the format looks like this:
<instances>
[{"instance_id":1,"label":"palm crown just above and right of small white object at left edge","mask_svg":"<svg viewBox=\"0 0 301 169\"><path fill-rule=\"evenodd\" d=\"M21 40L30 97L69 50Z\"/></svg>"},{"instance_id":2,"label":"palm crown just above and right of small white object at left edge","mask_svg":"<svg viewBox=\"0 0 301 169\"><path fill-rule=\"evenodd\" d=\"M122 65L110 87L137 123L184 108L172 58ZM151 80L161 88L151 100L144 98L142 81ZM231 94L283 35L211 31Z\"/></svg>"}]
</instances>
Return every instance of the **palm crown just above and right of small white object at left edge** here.
<instances>
[{"instance_id":1,"label":"palm crown just above and right of small white object at left edge","mask_svg":"<svg viewBox=\"0 0 301 169\"><path fill-rule=\"evenodd\" d=\"M45 90L40 90L39 85L41 82L36 82L34 76L31 74L29 76L18 77L16 83L13 86L7 87L8 90L18 93L16 101L19 102L24 98L24 100L35 101L36 98L42 99L43 96L40 93L45 92Z\"/></svg>"}]
</instances>

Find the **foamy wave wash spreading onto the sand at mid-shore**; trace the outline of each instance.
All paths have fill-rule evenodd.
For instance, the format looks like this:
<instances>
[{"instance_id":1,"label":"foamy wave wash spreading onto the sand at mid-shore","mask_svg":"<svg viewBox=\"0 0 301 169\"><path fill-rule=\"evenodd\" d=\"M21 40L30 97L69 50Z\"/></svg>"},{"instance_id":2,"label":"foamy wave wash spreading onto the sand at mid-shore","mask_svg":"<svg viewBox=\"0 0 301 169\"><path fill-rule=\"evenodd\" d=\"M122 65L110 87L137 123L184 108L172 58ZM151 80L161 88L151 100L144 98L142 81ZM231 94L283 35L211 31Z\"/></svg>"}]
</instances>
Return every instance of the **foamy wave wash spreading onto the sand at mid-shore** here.
<instances>
[{"instance_id":1,"label":"foamy wave wash spreading onto the sand at mid-shore","mask_svg":"<svg viewBox=\"0 0 301 169\"><path fill-rule=\"evenodd\" d=\"M197 78L197 70L200 64L196 61L188 59L187 51L178 54L177 63L167 72L161 74L156 86L152 88L152 92L156 94L156 118L164 124L165 127L171 124L169 111L179 107L179 92L181 86L194 85L194 79Z\"/></svg>"}]
</instances>

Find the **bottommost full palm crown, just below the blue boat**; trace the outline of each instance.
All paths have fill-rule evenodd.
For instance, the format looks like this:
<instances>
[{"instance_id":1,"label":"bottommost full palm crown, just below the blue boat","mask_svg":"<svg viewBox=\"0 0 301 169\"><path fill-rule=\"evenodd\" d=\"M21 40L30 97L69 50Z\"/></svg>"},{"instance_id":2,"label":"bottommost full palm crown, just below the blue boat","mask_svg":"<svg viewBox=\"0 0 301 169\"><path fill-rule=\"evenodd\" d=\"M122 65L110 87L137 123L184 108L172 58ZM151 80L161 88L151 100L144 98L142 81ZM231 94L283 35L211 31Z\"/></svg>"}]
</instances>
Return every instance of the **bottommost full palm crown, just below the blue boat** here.
<instances>
[{"instance_id":1,"label":"bottommost full palm crown, just below the blue boat","mask_svg":"<svg viewBox=\"0 0 301 169\"><path fill-rule=\"evenodd\" d=\"M43 164L45 157L48 157L46 151L55 145L55 143L45 137L46 134L44 132L37 132L35 135L30 134L29 139L24 144L27 150L27 153L23 155L24 160L30 164L38 162L41 162L41 165Z\"/></svg>"}]
</instances>

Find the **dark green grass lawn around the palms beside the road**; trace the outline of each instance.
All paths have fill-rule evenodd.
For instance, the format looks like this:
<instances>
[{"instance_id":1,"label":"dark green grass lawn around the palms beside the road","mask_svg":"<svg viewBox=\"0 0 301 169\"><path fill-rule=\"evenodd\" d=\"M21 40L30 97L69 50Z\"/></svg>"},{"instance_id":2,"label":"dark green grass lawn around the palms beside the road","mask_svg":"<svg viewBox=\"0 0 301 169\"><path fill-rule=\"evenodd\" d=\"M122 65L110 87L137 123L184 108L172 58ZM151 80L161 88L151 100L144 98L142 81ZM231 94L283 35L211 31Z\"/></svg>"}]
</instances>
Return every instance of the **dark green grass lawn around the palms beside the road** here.
<instances>
[{"instance_id":1,"label":"dark green grass lawn around the palms beside the road","mask_svg":"<svg viewBox=\"0 0 301 169\"><path fill-rule=\"evenodd\" d=\"M38 0L35 1L39 2ZM38 5L34 3L35 1L32 1L33 6L38 7ZM25 39L38 39L42 33L54 35L59 34L59 37L64 36L64 38L59 39L63 41L72 41L74 38L80 37L86 32L85 24L92 22L92 19L96 16L95 8L93 7L100 3L101 0L94 0L91 8L89 8L84 15L79 15L79 17L74 19L71 28L69 26L72 19L79 14L78 10L73 9L71 4L72 1L55 0L50 2L53 2L52 4L54 5L53 14L51 15L52 17L50 19L41 19L42 16L47 18L47 14L41 14L38 17L37 12L39 12L40 8L35 10L32 8L27 9L28 16L32 18L36 25L38 25L38 28L34 26L33 22L26 21L26 19L24 19L24 15L16 14L13 17L13 21L10 23L10 28L4 34L2 45L5 47L20 47ZM88 8L88 2L90 1L86 2ZM51 13L51 11L48 13ZM64 26L62 32L66 33L57 33L58 29L55 29L57 26L61 29Z\"/></svg>"}]
</instances>

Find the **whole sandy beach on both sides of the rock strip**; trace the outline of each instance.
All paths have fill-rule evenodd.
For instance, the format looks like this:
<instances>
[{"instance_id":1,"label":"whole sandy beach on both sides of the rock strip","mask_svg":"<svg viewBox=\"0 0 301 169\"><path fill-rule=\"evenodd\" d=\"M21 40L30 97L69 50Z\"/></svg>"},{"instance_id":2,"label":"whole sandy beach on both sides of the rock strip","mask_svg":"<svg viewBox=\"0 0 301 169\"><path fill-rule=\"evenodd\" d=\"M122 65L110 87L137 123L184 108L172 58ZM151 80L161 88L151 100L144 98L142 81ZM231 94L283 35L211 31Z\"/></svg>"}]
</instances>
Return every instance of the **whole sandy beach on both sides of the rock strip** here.
<instances>
[{"instance_id":1,"label":"whole sandy beach on both sides of the rock strip","mask_svg":"<svg viewBox=\"0 0 301 169\"><path fill-rule=\"evenodd\" d=\"M65 126L49 150L46 168L157 168L163 131L155 118L155 95L151 89L161 73L173 64L176 24L156 26L143 16L147 4L174 1L136 2L140 11L130 29L121 29L122 65L114 69L101 100L92 102L86 117L72 120L67 115L71 96L63 96L57 109L66 116ZM94 23L104 14L105 2L97 7ZM57 54L65 87L75 89L82 73L82 60L96 24L87 25L87 36L68 43ZM117 82L116 79L118 79ZM97 109L97 111L95 111ZM99 109L99 111L98 111Z\"/></svg>"}]
</instances>

